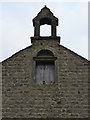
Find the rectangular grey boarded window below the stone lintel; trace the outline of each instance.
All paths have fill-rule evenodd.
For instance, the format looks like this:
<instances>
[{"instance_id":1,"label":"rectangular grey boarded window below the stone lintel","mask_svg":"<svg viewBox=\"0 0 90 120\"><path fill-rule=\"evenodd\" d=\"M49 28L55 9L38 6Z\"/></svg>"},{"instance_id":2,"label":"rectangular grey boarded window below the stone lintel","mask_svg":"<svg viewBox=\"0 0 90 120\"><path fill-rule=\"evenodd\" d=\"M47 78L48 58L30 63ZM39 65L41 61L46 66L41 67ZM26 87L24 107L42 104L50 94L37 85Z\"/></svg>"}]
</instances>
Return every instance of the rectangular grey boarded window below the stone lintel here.
<instances>
[{"instance_id":1,"label":"rectangular grey boarded window below the stone lintel","mask_svg":"<svg viewBox=\"0 0 90 120\"><path fill-rule=\"evenodd\" d=\"M36 62L36 81L39 84L54 83L55 78L54 61Z\"/></svg>"}]
</instances>

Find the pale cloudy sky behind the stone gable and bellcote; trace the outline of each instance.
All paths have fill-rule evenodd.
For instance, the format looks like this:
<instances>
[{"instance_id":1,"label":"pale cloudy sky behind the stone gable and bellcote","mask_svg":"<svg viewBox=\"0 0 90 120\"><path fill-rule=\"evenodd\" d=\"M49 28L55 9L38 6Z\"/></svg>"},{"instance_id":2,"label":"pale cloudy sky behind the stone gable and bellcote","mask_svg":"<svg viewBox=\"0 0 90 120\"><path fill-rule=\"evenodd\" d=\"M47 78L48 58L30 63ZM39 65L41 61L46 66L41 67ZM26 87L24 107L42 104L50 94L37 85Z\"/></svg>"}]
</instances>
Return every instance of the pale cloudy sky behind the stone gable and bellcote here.
<instances>
[{"instance_id":1,"label":"pale cloudy sky behind the stone gable and bellcote","mask_svg":"<svg viewBox=\"0 0 90 120\"><path fill-rule=\"evenodd\" d=\"M0 3L0 61L31 45L32 19L45 5L59 19L60 44L88 59L88 1L41 1ZM50 35L50 26L41 26L40 34Z\"/></svg>"}]
</instances>

